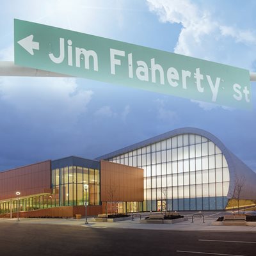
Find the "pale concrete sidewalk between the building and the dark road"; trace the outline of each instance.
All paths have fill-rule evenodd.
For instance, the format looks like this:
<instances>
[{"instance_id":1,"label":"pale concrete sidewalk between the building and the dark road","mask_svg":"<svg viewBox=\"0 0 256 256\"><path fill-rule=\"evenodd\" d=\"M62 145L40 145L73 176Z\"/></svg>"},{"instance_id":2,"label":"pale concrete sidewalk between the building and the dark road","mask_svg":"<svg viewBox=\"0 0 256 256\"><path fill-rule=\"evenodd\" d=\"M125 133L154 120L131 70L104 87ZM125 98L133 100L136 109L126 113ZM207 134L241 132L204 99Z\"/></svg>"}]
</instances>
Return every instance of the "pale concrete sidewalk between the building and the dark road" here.
<instances>
[{"instance_id":1,"label":"pale concrete sidewalk between the building and the dark road","mask_svg":"<svg viewBox=\"0 0 256 256\"><path fill-rule=\"evenodd\" d=\"M205 223L202 218L196 218L192 223L191 217L188 221L183 221L175 224L144 224L140 223L140 218L135 218L134 221L117 221L114 223L109 222L96 222L94 218L88 218L88 224L84 225L85 219L1 219L1 222L16 222L22 225L22 223L30 224L51 224L51 225L79 225L85 228L131 228L131 229L143 229L143 230L175 230L175 231L213 231L213 232L256 232L256 227L248 226L214 226L211 225L212 221L216 221L214 216L206 216Z\"/></svg>"}]
</instances>

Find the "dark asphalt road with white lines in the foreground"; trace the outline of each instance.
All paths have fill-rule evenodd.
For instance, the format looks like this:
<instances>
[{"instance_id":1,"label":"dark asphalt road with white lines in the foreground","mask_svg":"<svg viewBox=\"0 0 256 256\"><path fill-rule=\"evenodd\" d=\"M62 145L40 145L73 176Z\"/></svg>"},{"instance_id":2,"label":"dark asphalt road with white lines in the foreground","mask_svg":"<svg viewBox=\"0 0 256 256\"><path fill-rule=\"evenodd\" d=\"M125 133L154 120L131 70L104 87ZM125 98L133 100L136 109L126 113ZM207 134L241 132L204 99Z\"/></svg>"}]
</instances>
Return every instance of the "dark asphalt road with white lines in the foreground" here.
<instances>
[{"instance_id":1,"label":"dark asphalt road with white lines in the foreground","mask_svg":"<svg viewBox=\"0 0 256 256\"><path fill-rule=\"evenodd\" d=\"M223 240L236 241L236 243L223 242ZM86 228L67 225L31 225L17 222L0 223L1 256L189 256L219 255L218 253L220 255L255 256L256 234Z\"/></svg>"}]
</instances>

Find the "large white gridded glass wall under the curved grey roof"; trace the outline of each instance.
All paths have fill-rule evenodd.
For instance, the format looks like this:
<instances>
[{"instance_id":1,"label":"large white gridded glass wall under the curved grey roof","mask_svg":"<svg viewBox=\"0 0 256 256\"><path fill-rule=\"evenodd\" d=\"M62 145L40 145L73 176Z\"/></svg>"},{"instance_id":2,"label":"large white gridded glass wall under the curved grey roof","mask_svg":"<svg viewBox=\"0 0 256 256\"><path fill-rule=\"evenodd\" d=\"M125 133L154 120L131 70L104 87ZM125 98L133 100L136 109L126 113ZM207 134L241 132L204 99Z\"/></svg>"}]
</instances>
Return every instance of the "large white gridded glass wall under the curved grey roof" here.
<instances>
[{"instance_id":1,"label":"large white gridded glass wall under the curved grey roof","mask_svg":"<svg viewBox=\"0 0 256 256\"><path fill-rule=\"evenodd\" d=\"M144 211L225 209L229 171L212 141L180 134L108 161L144 169Z\"/></svg>"}]
</instances>

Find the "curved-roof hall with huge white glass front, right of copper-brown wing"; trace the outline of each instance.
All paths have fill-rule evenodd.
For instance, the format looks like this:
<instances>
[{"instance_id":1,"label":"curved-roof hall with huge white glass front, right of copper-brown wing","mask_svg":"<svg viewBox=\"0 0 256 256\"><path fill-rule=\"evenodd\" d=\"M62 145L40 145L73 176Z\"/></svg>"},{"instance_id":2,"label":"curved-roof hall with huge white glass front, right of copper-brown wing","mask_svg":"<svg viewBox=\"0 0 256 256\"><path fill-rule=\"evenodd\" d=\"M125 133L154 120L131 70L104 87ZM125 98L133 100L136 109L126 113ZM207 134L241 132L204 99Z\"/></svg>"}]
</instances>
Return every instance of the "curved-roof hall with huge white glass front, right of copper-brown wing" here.
<instances>
[{"instance_id":1,"label":"curved-roof hall with huge white glass front, right of copper-brown wing","mask_svg":"<svg viewBox=\"0 0 256 256\"><path fill-rule=\"evenodd\" d=\"M202 129L176 129L97 159L143 168L144 211L223 210L237 197L240 206L256 202L256 173Z\"/></svg>"}]
</instances>

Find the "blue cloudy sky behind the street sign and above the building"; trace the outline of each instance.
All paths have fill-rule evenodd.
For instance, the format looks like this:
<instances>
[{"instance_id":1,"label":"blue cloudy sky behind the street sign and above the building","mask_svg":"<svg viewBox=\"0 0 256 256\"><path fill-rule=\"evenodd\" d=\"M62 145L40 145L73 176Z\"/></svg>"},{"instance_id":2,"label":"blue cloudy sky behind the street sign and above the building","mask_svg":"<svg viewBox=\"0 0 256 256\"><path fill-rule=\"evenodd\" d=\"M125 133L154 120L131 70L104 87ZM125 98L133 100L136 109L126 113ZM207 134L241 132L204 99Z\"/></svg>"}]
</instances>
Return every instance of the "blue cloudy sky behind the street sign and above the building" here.
<instances>
[{"instance_id":1,"label":"blue cloudy sky behind the street sign and above the building","mask_svg":"<svg viewBox=\"0 0 256 256\"><path fill-rule=\"evenodd\" d=\"M13 19L184 54L256 72L256 2L2 0L0 61L13 61ZM219 138L256 171L252 109L66 77L0 77L0 170L107 154L180 127Z\"/></svg>"}]
</instances>

